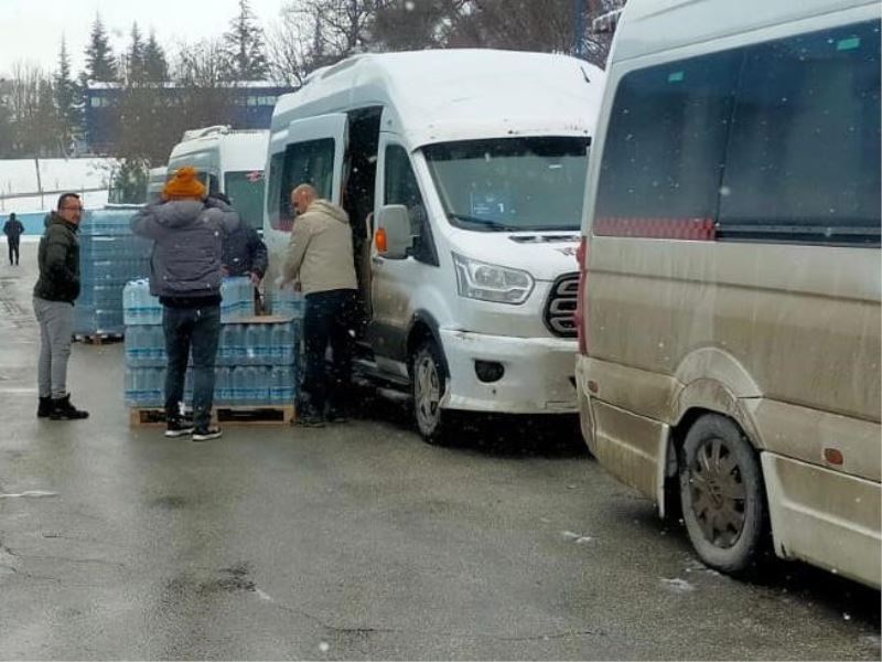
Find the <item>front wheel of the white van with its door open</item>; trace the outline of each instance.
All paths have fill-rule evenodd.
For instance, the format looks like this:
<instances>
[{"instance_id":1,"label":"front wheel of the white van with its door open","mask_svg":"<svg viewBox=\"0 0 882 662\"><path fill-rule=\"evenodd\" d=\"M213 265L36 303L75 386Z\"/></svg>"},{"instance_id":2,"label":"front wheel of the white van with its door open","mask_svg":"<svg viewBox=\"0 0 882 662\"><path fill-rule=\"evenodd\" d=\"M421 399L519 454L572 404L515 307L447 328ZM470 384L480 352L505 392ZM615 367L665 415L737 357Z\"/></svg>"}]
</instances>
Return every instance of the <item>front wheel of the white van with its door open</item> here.
<instances>
[{"instance_id":1,"label":"front wheel of the white van with its door open","mask_svg":"<svg viewBox=\"0 0 882 662\"><path fill-rule=\"evenodd\" d=\"M447 375L441 351L433 340L426 340L419 345L410 366L417 429L428 444L444 445L447 416L441 409L441 398L447 387Z\"/></svg>"}]
</instances>

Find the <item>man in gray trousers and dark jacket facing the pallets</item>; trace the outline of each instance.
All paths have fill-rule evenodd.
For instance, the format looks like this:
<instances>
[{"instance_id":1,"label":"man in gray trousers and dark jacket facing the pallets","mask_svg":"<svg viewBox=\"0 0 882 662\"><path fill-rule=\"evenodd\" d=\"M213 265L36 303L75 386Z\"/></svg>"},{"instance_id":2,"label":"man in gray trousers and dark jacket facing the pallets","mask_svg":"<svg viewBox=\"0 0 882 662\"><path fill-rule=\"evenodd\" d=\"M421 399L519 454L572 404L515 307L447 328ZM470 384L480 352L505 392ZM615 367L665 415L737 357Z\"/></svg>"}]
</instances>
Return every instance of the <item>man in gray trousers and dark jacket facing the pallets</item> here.
<instances>
[{"instance_id":1,"label":"man in gray trousers and dark jacket facing the pallets","mask_svg":"<svg viewBox=\"0 0 882 662\"><path fill-rule=\"evenodd\" d=\"M34 286L34 313L40 322L36 415L52 420L88 418L67 393L67 360L74 332L74 301L79 296L79 239L83 204L76 193L58 197L37 252L40 278Z\"/></svg>"}]
</instances>

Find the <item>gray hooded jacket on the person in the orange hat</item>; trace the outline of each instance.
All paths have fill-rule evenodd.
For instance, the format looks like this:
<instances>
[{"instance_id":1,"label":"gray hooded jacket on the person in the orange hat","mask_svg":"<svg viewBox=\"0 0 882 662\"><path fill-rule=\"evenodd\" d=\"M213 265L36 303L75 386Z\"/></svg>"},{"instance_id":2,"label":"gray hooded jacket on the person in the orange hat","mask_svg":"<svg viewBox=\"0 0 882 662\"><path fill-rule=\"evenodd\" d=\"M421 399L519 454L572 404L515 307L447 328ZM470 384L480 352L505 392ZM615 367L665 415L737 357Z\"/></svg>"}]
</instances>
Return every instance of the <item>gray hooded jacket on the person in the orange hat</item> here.
<instances>
[{"instance_id":1,"label":"gray hooded jacket on the person in the orange hat","mask_svg":"<svg viewBox=\"0 0 882 662\"><path fill-rule=\"evenodd\" d=\"M218 200L169 201L138 212L131 220L132 233L154 242L150 293L163 299L218 299L222 237L238 225L239 215Z\"/></svg>"}]
</instances>

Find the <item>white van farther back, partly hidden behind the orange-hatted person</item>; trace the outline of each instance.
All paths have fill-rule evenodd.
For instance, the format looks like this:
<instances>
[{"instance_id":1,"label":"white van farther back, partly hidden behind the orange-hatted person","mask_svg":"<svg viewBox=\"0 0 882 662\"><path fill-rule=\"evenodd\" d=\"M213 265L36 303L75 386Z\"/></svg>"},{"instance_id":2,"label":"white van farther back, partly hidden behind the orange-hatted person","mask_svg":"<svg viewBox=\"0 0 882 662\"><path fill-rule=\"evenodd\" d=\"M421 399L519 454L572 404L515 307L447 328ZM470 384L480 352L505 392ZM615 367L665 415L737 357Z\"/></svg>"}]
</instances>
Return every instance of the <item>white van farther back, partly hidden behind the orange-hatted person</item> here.
<instances>
[{"instance_id":1,"label":"white van farther back, partly hidden behind the orange-hatted person","mask_svg":"<svg viewBox=\"0 0 882 662\"><path fill-rule=\"evenodd\" d=\"M212 193L226 194L251 227L263 223L263 163L267 130L233 130L227 126L184 131L169 156L171 178L183 166L193 166Z\"/></svg>"}]
</instances>

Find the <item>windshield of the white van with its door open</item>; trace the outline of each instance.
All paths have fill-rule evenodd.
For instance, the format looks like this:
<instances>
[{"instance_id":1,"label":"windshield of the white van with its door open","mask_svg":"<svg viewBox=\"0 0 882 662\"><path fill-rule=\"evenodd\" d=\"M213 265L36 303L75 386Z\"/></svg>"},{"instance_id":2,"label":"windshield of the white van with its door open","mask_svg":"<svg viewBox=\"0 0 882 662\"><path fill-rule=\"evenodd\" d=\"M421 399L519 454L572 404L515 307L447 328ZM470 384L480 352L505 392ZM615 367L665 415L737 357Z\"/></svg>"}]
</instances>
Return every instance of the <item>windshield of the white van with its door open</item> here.
<instances>
[{"instance_id":1,"label":"windshield of the white van with its door open","mask_svg":"<svg viewBox=\"0 0 882 662\"><path fill-rule=\"evenodd\" d=\"M588 138L494 138L423 148L451 224L480 232L578 229Z\"/></svg>"}]
</instances>

